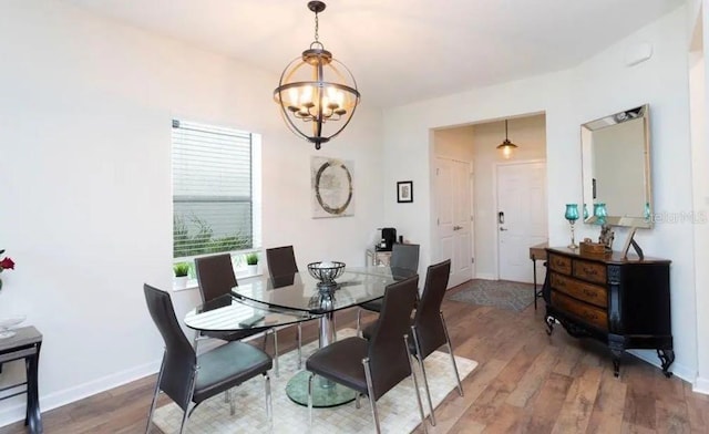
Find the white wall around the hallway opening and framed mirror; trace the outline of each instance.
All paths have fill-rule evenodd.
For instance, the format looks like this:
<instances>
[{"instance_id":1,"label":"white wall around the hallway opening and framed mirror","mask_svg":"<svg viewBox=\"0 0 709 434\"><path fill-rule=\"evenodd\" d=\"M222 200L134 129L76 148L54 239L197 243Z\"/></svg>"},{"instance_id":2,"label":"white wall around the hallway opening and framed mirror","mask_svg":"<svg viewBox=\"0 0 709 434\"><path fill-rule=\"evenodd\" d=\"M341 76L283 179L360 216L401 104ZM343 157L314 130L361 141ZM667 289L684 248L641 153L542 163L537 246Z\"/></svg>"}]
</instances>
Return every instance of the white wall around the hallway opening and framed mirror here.
<instances>
[{"instance_id":1,"label":"white wall around the hallway opening and framed mirror","mask_svg":"<svg viewBox=\"0 0 709 434\"><path fill-rule=\"evenodd\" d=\"M448 97L393 107L384 112L384 183L414 179L430 184L428 168L430 128L508 117L522 113L546 113L549 244L565 245L568 224L564 204L582 202L582 123L620 110L650 104L653 182L658 213L667 215L692 209L688 126L688 70L686 11L678 9L602 53L568 71L530 78ZM625 65L626 50L649 42L653 58L636 66ZM400 155L410 163L398 163ZM422 189L419 189L420 192ZM433 225L429 196L420 195L405 215L384 197L388 219L425 236L422 261L429 259ZM597 228L579 225L577 239L596 237ZM619 230L616 238L625 238ZM693 277L693 230L691 221L662 223L643 230L637 240L648 256L672 260L671 311L677 360L674 372L693 380L697 368ZM709 320L706 320L709 321ZM646 353L643 353L646 355ZM657 364L657 359L650 359Z\"/></svg>"}]
</instances>

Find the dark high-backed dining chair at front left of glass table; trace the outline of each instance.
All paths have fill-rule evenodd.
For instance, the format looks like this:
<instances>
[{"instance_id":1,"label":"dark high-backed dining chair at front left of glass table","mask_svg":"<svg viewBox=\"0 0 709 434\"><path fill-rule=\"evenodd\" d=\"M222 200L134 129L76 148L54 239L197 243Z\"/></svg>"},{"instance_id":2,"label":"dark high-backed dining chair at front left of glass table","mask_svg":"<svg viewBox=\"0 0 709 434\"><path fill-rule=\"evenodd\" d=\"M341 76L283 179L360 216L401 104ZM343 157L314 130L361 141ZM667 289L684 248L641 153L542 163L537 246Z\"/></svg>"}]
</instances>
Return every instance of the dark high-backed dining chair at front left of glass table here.
<instances>
[{"instance_id":1,"label":"dark high-backed dining chair at front left of glass table","mask_svg":"<svg viewBox=\"0 0 709 434\"><path fill-rule=\"evenodd\" d=\"M169 294L150 285L143 286L147 310L165 342L163 363L157 374L155 393L147 416L145 433L150 433L160 391L165 392L184 411L179 433L187 418L205 400L242 384L256 375L264 375L266 415L273 423L270 379L271 358L264 351L244 342L229 342L196 355L194 348L179 328ZM234 400L230 402L234 414Z\"/></svg>"}]
</instances>

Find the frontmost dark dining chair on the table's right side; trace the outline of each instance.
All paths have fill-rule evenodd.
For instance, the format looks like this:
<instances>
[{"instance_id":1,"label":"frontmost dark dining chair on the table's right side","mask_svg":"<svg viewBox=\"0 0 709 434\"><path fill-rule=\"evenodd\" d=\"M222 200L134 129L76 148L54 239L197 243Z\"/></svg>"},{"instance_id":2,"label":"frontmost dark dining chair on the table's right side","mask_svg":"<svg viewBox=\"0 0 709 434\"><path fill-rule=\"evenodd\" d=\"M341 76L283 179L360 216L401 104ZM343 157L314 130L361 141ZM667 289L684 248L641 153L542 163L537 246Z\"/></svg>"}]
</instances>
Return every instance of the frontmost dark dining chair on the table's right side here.
<instances>
[{"instance_id":1,"label":"frontmost dark dining chair on the table's right side","mask_svg":"<svg viewBox=\"0 0 709 434\"><path fill-rule=\"evenodd\" d=\"M421 425L428 432L419 385L409 353L411 311L415 302L419 277L391 283L384 292L379 321L369 341L352 337L321 348L306 361L308 378L308 414L312 424L312 380L320 375L367 395L377 432L380 432L377 401L407 376L415 390Z\"/></svg>"}]
</instances>

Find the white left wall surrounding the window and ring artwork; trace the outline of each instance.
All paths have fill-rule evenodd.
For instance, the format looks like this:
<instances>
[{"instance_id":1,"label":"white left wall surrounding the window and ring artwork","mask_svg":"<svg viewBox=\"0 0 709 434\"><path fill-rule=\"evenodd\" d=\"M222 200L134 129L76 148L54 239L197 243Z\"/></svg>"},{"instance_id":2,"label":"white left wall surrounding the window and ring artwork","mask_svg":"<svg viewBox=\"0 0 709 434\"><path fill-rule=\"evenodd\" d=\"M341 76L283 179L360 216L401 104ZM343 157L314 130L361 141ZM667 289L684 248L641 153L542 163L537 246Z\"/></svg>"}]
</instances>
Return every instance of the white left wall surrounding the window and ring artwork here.
<instances>
[{"instance_id":1,"label":"white left wall surrounding the window and ring artwork","mask_svg":"<svg viewBox=\"0 0 709 434\"><path fill-rule=\"evenodd\" d=\"M366 102L317 153L354 162L356 215L314 220L316 152L282 124L277 75L44 0L2 2L0 58L0 248L17 262L0 317L44 334L42 410L157 370L142 286L172 286L175 116L263 135L266 247L292 244L304 268L363 265L383 224L381 113ZM173 299L181 318L198 296ZM21 371L4 369L6 383ZM23 412L4 402L0 424Z\"/></svg>"}]
</instances>

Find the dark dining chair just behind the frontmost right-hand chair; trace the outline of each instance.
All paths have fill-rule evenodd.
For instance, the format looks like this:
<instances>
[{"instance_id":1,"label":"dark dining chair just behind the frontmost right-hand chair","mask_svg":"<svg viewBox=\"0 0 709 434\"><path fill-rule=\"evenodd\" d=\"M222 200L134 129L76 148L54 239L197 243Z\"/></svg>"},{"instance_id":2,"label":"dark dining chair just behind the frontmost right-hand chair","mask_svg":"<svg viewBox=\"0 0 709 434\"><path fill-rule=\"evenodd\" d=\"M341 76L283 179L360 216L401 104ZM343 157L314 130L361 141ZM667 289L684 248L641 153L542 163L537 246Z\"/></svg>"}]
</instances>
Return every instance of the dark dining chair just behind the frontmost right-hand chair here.
<instances>
[{"instance_id":1,"label":"dark dining chair just behind the frontmost right-hand chair","mask_svg":"<svg viewBox=\"0 0 709 434\"><path fill-rule=\"evenodd\" d=\"M458 393L463 396L463 386L461 385L461 378L458 373L458 366L455 365L453 347L451 345L451 339L448 333L448 328L445 327L445 319L441 311L441 304L443 303L443 297L445 296L450 273L450 259L432 265L427 270L423 293L421 294L421 300L417 306L411 326L413 330L413 340L409 341L409 350L418 360L419 368L423 374L423 384L425 385L425 394L429 402L431 425L435 425L435 416L433 414L429 379L425 373L423 360L443 344L448 347L448 352L451 358L453 373L455 374L455 380L458 382ZM362 334L368 339L373 335L374 330L376 323L372 323L364 328Z\"/></svg>"}]
</instances>

